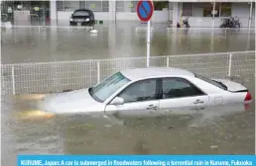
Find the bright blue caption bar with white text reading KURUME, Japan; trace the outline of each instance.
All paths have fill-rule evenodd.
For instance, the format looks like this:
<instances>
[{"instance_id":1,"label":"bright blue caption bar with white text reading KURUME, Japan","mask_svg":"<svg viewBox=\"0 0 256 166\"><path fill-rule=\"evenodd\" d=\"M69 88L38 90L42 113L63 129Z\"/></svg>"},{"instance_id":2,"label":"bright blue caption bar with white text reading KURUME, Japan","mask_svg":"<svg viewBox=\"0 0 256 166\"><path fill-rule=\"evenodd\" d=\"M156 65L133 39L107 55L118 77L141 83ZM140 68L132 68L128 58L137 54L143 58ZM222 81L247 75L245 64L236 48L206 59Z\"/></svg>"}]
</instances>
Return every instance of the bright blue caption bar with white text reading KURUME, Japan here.
<instances>
[{"instance_id":1,"label":"bright blue caption bar with white text reading KURUME, Japan","mask_svg":"<svg viewBox=\"0 0 256 166\"><path fill-rule=\"evenodd\" d=\"M247 166L255 155L19 155L18 166Z\"/></svg>"}]
</instances>

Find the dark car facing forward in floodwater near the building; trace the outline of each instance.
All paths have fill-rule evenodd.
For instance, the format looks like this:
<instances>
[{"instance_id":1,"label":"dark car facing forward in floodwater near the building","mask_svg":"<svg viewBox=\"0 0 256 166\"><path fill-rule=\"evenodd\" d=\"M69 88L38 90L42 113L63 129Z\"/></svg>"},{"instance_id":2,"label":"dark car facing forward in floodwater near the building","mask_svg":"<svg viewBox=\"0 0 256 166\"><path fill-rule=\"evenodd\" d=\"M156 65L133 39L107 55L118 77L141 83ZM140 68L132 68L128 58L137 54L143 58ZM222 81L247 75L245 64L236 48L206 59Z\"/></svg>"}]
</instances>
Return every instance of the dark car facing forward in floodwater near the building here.
<instances>
[{"instance_id":1,"label":"dark car facing forward in floodwater near the building","mask_svg":"<svg viewBox=\"0 0 256 166\"><path fill-rule=\"evenodd\" d=\"M94 14L87 9L78 9L71 14L69 19L70 26L86 26L94 24Z\"/></svg>"}]
</instances>

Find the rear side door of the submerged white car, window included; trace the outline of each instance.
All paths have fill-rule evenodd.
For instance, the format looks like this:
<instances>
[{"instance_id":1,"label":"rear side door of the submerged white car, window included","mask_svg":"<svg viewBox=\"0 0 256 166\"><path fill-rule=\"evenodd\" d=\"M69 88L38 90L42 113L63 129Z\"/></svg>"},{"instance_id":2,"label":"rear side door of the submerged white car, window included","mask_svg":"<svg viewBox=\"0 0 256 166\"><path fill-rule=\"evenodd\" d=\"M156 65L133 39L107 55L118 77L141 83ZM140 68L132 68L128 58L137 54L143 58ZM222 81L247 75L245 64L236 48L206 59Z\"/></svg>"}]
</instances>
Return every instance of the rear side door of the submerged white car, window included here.
<instances>
[{"instance_id":1,"label":"rear side door of the submerged white car, window included","mask_svg":"<svg viewBox=\"0 0 256 166\"><path fill-rule=\"evenodd\" d=\"M209 97L184 78L163 78L159 108L171 114L198 113L205 109Z\"/></svg>"}]
</instances>

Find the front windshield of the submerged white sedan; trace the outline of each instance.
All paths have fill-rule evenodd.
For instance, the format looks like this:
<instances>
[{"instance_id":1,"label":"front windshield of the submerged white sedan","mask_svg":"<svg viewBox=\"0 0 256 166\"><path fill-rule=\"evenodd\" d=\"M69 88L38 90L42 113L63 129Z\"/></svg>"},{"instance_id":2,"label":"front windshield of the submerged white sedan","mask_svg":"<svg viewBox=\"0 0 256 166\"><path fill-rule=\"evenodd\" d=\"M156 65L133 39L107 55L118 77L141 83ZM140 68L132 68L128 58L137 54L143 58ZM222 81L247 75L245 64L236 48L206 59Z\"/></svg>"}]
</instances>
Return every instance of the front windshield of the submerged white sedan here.
<instances>
[{"instance_id":1,"label":"front windshield of the submerged white sedan","mask_svg":"<svg viewBox=\"0 0 256 166\"><path fill-rule=\"evenodd\" d=\"M130 82L121 72L107 77L99 84L89 88L89 93L92 98L99 102L104 102L108 97L115 93L119 88Z\"/></svg>"}]
</instances>

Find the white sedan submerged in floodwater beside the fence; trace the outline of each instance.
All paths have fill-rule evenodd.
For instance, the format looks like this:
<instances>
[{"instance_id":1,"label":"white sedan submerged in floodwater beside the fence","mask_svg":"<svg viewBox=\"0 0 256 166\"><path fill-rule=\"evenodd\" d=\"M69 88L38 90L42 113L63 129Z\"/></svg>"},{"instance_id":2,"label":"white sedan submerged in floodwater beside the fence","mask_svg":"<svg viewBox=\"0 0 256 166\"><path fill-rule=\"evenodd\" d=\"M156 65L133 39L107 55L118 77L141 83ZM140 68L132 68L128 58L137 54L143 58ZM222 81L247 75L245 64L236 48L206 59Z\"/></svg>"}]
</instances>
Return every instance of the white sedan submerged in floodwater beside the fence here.
<instances>
[{"instance_id":1,"label":"white sedan submerged in floodwater beside the fence","mask_svg":"<svg viewBox=\"0 0 256 166\"><path fill-rule=\"evenodd\" d=\"M228 79L209 79L179 68L137 68L117 72L88 89L46 96L42 109L57 114L136 110L203 110L248 104L250 92Z\"/></svg>"}]
</instances>

